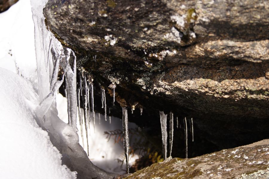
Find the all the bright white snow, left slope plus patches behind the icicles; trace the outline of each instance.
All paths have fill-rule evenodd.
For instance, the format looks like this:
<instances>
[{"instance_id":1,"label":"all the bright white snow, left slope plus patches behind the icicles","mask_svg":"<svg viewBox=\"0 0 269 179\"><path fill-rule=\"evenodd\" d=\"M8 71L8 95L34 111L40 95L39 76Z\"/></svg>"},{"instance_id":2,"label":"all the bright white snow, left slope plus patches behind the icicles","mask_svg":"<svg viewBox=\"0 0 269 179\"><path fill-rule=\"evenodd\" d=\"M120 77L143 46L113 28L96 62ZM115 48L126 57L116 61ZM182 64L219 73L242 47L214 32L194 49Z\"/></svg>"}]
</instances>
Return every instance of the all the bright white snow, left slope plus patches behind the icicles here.
<instances>
[{"instance_id":1,"label":"all the bright white snow, left slope plus patches behind the icicles","mask_svg":"<svg viewBox=\"0 0 269 179\"><path fill-rule=\"evenodd\" d=\"M61 165L48 133L35 121L40 101L30 0L20 0L0 13L0 24L0 178L74 178L74 172ZM16 74L18 69L22 77ZM58 116L67 123L66 98L58 94L56 100ZM129 123L129 127L136 126ZM104 135L104 131L122 129L122 121L112 118L109 124L101 115L99 125L96 114L95 128L94 133L91 123L89 158L108 172L125 173L126 166L117 161L124 156L123 143L107 141ZM78 135L83 146L80 131ZM86 150L86 140L84 144ZM130 158L130 165L136 158Z\"/></svg>"}]
</instances>

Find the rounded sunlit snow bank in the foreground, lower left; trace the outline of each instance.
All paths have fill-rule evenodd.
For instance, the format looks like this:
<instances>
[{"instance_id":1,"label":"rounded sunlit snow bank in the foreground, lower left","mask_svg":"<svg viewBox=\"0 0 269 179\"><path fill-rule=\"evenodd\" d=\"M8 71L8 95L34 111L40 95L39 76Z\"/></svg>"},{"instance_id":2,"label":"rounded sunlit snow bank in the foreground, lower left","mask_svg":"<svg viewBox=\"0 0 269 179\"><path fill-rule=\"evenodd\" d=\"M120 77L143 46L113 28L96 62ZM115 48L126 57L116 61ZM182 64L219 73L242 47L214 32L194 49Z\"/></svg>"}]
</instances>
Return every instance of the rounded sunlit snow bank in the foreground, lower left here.
<instances>
[{"instance_id":1,"label":"rounded sunlit snow bank in the foreground, lower left","mask_svg":"<svg viewBox=\"0 0 269 179\"><path fill-rule=\"evenodd\" d=\"M35 121L39 98L30 82L0 68L0 178L72 179L61 154Z\"/></svg>"}]
</instances>

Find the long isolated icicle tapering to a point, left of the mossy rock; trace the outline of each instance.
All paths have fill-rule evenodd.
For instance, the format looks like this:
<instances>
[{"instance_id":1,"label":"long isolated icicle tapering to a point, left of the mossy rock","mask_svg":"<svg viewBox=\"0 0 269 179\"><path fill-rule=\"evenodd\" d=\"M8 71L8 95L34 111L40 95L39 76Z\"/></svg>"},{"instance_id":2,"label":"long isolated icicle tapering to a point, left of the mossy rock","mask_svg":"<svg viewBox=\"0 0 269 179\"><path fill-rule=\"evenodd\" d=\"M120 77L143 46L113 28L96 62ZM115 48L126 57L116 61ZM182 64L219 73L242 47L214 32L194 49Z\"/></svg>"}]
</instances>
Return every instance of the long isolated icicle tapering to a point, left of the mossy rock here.
<instances>
[{"instance_id":1,"label":"long isolated icicle tapering to a point, left of the mossy rock","mask_svg":"<svg viewBox=\"0 0 269 179\"><path fill-rule=\"evenodd\" d=\"M122 108L122 121L123 121L123 144L127 165L127 173L129 173L129 131L128 131L128 114L126 107Z\"/></svg>"}]
</instances>

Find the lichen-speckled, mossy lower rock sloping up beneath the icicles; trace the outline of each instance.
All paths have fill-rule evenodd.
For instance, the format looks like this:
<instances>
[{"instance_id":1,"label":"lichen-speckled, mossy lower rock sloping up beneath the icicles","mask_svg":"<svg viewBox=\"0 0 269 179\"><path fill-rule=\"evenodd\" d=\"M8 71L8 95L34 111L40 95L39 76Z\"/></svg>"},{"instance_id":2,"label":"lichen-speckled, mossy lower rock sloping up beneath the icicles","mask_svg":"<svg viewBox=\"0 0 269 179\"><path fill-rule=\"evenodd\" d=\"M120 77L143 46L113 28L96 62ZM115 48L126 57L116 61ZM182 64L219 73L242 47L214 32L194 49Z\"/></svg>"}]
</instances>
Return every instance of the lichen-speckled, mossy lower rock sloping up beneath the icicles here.
<instances>
[{"instance_id":1,"label":"lichen-speckled, mossy lower rock sloping up beneath the icicles","mask_svg":"<svg viewBox=\"0 0 269 179\"><path fill-rule=\"evenodd\" d=\"M132 178L269 178L269 140L190 159L170 157L126 179Z\"/></svg>"}]
</instances>

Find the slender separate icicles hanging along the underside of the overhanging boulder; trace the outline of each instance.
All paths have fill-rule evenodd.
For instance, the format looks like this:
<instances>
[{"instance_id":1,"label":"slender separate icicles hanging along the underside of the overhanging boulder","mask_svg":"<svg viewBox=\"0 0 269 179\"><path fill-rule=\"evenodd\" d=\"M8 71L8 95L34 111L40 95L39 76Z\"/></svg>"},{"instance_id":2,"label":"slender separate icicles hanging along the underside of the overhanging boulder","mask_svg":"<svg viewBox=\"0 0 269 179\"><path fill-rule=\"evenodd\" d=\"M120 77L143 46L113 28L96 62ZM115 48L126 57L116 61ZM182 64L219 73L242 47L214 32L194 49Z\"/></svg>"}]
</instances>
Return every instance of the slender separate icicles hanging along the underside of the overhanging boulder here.
<instances>
[{"instance_id":1,"label":"slender separate icicles hanging along the underside of the overhanging boulder","mask_svg":"<svg viewBox=\"0 0 269 179\"><path fill-rule=\"evenodd\" d=\"M115 88L116 85L113 84L111 85L113 89L113 105L115 102ZM84 89L84 94L82 93L82 88ZM81 126L81 131L83 131L83 123L85 125L86 129L86 138L87 138L87 152L89 155L89 144L88 144L88 130L90 130L90 122L91 122L91 114L90 114L90 109L92 111L92 116L93 116L93 126L94 126L94 132L95 132L95 112L94 112L94 93L93 93L93 79L82 74L80 75L80 87L77 89L77 104L78 104L78 113L79 113L79 121L80 121L80 126ZM66 92L68 95L68 92ZM102 108L104 108L104 113L105 113L105 121L107 121L107 113L106 113L106 93L105 89L101 88L101 104ZM80 108L80 97L82 97L83 101L83 109L84 109L84 120L82 119L82 114L81 114L81 108ZM90 108L90 98L91 98L91 108ZM88 108L88 109L87 109ZM133 113L134 108L132 108L132 113ZM142 115L142 110L143 108L140 108L140 115ZM109 113L110 113L110 108L109 108ZM99 113L99 124L100 124L100 113ZM124 144L124 152L125 152L125 157L126 157L126 166L127 166L127 172L129 173L129 131L128 131L128 114L127 114L127 108L123 107L122 108L122 119L123 119L123 144ZM164 112L160 111L160 121L161 121L161 133L162 133L162 146L163 146L163 158L166 159L167 157L167 115L164 114ZM173 113L170 112L170 121L169 121L169 156L172 154L172 144L173 144L173 133L174 133L174 117ZM176 126L178 128L178 117L176 121ZM111 124L111 117L109 116L109 123ZM186 152L186 158L188 158L188 145L187 145L187 119L186 117L184 118L183 121L184 124L184 133L185 133L185 152ZM193 138L193 120L192 118L189 120L189 127L191 130L192 134L192 141L194 141ZM181 128L181 125L180 125ZM140 130L140 127L139 127ZM84 141L83 137L83 132L81 132L81 137L82 141ZM83 144L84 146L84 144Z\"/></svg>"}]
</instances>

